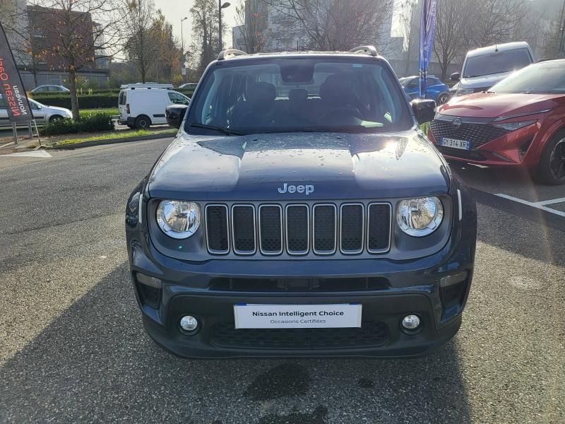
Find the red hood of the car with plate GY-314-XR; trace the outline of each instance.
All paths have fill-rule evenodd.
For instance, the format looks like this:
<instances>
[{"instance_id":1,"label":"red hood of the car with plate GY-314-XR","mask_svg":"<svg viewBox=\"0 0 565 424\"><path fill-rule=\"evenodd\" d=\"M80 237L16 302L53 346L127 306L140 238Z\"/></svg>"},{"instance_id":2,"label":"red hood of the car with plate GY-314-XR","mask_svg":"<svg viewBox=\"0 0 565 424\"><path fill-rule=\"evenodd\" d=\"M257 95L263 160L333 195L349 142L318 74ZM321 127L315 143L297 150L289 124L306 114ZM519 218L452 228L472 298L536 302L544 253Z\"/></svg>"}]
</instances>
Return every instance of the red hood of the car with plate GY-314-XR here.
<instances>
[{"instance_id":1,"label":"red hood of the car with plate GY-314-XR","mask_svg":"<svg viewBox=\"0 0 565 424\"><path fill-rule=\"evenodd\" d=\"M438 112L458 117L497 118L552 109L559 106L560 98L564 95L475 93L449 100Z\"/></svg>"}]
</instances>

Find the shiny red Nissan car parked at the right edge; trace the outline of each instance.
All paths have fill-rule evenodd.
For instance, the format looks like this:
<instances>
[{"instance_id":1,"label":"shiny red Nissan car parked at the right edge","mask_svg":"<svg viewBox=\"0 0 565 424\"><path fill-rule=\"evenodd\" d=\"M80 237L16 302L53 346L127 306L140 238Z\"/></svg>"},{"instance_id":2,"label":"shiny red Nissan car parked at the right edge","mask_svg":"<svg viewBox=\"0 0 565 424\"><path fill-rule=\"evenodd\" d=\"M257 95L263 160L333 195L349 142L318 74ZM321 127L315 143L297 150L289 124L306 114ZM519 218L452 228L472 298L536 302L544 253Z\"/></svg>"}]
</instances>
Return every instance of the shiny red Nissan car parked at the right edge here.
<instances>
[{"instance_id":1,"label":"shiny red Nissan car parked at the right edge","mask_svg":"<svg viewBox=\"0 0 565 424\"><path fill-rule=\"evenodd\" d=\"M546 184L565 184L565 59L512 73L486 93L439 107L429 139L447 159L528 167Z\"/></svg>"}]
</instances>

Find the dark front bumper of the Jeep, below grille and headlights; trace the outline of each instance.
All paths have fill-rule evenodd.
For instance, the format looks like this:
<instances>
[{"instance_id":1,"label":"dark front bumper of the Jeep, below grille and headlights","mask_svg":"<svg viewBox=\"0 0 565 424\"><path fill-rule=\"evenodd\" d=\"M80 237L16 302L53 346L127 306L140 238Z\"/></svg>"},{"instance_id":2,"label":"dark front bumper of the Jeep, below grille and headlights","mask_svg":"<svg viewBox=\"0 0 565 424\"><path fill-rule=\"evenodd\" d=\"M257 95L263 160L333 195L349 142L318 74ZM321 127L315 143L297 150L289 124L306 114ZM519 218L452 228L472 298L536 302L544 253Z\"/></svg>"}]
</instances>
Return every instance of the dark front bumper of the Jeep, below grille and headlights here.
<instances>
[{"instance_id":1,"label":"dark front bumper of the Jeep, below grille and headlights","mask_svg":"<svg viewBox=\"0 0 565 424\"><path fill-rule=\"evenodd\" d=\"M133 285L145 329L160 346L187 358L398 358L431 353L459 329L472 278L475 240L475 227L453 228L440 252L411 261L213 259L195 263L163 256L151 245L146 233L127 233ZM153 307L140 291L137 273L162 281ZM456 286L442 287L453 276L459 276L462 281ZM347 287L345 290L323 290L323 287L268 290L259 282L252 290L242 290L237 285L214 285L218 279L253 283L258 278L261 281L265 278L273 281L379 278L386 284L355 290ZM298 331L299 338L290 333L295 330L235 330L233 305L237 303L361 303L362 329L307 329ZM179 319L184 314L198 318L200 326L194 334L184 334L179 328ZM407 334L400 328L400 320L406 314L417 314L422 319L420 331Z\"/></svg>"}]
</instances>

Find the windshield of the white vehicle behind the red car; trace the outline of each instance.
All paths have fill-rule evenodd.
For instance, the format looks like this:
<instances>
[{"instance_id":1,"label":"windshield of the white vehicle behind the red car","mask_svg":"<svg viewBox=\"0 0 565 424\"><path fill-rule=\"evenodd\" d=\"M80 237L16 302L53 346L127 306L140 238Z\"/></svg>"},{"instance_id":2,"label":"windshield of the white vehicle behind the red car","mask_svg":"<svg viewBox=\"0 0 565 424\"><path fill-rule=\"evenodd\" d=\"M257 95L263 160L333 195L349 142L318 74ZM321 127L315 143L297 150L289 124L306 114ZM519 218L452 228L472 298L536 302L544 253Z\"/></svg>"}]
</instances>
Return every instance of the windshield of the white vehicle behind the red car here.
<instances>
[{"instance_id":1,"label":"windshield of the white vehicle behind the red car","mask_svg":"<svg viewBox=\"0 0 565 424\"><path fill-rule=\"evenodd\" d=\"M528 49L513 49L504 52L492 52L465 60L463 78L492 75L493 73L511 72L528 66L532 57Z\"/></svg>"}]
</instances>

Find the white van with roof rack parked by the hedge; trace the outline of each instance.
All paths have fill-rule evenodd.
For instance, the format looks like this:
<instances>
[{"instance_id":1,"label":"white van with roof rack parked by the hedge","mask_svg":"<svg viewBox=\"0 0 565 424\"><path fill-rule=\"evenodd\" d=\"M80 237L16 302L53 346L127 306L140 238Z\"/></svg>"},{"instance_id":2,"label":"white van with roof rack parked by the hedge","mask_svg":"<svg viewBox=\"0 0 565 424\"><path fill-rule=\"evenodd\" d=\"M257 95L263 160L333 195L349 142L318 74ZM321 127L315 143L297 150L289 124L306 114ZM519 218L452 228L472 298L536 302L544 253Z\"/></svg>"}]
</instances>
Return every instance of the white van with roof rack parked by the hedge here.
<instances>
[{"instance_id":1,"label":"white van with roof rack parked by the hedge","mask_svg":"<svg viewBox=\"0 0 565 424\"><path fill-rule=\"evenodd\" d=\"M171 90L170 84L130 84L119 92L118 124L130 128L149 128L167 124L165 108L169 105L188 105L190 98Z\"/></svg>"}]
</instances>

